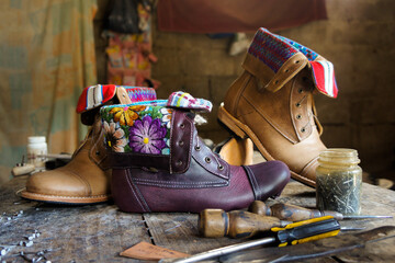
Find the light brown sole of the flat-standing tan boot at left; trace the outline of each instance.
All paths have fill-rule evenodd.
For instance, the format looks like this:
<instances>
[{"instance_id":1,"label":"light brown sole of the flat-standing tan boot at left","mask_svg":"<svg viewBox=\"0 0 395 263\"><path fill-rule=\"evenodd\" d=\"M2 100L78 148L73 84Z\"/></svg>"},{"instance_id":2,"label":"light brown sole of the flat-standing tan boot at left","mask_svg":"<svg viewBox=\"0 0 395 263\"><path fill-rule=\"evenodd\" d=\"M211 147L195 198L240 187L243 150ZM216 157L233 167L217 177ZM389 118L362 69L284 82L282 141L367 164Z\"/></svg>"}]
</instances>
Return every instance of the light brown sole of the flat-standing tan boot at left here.
<instances>
[{"instance_id":1,"label":"light brown sole of the flat-standing tan boot at left","mask_svg":"<svg viewBox=\"0 0 395 263\"><path fill-rule=\"evenodd\" d=\"M38 201L44 203L66 204L66 205L89 205L103 203L110 199L110 195L95 195L89 197L82 196L58 196L58 195L44 195L22 191L21 196L31 201Z\"/></svg>"}]
</instances>

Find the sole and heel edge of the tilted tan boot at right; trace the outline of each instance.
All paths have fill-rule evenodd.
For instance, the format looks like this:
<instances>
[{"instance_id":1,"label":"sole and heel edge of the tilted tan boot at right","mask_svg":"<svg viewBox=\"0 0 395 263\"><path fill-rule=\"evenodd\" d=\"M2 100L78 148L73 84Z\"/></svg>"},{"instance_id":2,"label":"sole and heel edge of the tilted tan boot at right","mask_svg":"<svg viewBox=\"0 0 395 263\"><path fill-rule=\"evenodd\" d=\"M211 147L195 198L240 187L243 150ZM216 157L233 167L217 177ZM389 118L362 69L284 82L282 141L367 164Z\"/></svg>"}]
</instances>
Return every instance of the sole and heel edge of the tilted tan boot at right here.
<instances>
[{"instance_id":1,"label":"sole and heel edge of the tilted tan boot at right","mask_svg":"<svg viewBox=\"0 0 395 263\"><path fill-rule=\"evenodd\" d=\"M232 116L230 113L225 110L223 104L219 105L218 108L218 119L229 129L232 129L238 137L242 139L250 138L252 142L257 146L260 153L264 157L264 159L267 159L268 161L275 160L263 147L257 135L247 125L242 124L240 121ZM294 171L291 171L291 178L308 186L315 187L315 182L313 180L302 176Z\"/></svg>"}]
</instances>

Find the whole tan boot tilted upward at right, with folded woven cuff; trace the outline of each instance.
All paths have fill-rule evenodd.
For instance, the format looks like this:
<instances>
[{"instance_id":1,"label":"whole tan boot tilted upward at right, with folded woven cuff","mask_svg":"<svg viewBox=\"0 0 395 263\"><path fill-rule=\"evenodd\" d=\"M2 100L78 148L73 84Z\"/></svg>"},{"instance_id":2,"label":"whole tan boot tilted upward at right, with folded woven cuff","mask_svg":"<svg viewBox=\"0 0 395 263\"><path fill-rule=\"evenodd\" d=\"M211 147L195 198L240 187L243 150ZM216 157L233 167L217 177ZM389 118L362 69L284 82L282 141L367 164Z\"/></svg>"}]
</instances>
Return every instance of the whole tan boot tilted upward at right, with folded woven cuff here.
<instances>
[{"instance_id":1,"label":"whole tan boot tilted upward at right, with folded woven cuff","mask_svg":"<svg viewBox=\"0 0 395 263\"><path fill-rule=\"evenodd\" d=\"M285 162L293 179L315 186L317 157L326 147L313 92L336 98L331 64L260 28L242 67L219 107L219 121L241 138L251 138L267 160Z\"/></svg>"}]
</instances>

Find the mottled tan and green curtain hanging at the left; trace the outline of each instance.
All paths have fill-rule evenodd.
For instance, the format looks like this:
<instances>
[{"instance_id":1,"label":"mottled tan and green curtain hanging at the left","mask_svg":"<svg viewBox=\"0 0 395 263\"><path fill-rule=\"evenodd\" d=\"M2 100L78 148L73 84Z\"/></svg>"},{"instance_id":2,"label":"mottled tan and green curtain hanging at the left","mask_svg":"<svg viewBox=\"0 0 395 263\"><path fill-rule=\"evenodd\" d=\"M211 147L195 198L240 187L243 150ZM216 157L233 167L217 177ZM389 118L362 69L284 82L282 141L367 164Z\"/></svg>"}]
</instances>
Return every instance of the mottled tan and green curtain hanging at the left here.
<instances>
[{"instance_id":1,"label":"mottled tan and green curtain hanging at the left","mask_svg":"<svg viewBox=\"0 0 395 263\"><path fill-rule=\"evenodd\" d=\"M87 133L76 114L97 83L95 0L0 1L0 184L26 158L27 137L72 152Z\"/></svg>"}]
</instances>

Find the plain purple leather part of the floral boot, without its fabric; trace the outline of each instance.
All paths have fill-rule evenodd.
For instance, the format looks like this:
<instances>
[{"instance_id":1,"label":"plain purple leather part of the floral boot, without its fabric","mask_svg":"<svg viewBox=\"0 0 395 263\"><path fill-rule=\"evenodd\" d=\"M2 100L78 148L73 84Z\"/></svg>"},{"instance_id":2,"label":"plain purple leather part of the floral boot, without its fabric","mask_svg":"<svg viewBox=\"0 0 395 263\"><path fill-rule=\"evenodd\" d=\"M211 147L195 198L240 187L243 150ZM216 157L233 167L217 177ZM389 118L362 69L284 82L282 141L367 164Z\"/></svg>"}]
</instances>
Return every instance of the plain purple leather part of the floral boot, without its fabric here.
<instances>
[{"instance_id":1,"label":"plain purple leather part of the floral boot, without its fabric","mask_svg":"<svg viewBox=\"0 0 395 263\"><path fill-rule=\"evenodd\" d=\"M170 146L170 156L109 153L113 198L122 210L239 209L256 198L278 196L290 179L289 168L282 162L229 165L201 141L188 111L173 110ZM188 163L188 169L176 172L179 161L180 165Z\"/></svg>"}]
</instances>

